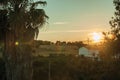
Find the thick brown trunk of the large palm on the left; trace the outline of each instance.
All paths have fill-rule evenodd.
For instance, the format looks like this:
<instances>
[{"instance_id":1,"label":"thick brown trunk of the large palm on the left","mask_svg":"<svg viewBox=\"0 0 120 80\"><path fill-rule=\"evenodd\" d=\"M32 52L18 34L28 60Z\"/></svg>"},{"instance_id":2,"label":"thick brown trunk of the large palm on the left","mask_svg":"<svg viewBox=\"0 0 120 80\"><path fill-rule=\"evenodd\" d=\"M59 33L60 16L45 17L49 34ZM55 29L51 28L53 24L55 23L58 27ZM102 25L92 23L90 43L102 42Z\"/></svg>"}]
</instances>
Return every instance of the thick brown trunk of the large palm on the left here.
<instances>
[{"instance_id":1,"label":"thick brown trunk of the large palm on the left","mask_svg":"<svg viewBox=\"0 0 120 80\"><path fill-rule=\"evenodd\" d=\"M15 36L6 32L5 67L7 80L32 80L32 49L28 44L15 45Z\"/></svg>"}]
</instances>

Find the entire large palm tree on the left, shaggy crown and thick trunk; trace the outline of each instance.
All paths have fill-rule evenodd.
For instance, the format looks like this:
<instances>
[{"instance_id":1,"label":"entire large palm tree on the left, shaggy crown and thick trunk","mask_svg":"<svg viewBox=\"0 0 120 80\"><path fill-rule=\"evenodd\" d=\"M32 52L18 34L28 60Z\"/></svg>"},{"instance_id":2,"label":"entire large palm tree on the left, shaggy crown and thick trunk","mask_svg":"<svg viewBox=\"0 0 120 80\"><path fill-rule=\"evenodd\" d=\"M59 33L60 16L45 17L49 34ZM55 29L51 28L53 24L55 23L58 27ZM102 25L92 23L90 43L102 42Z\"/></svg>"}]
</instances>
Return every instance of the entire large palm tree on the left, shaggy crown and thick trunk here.
<instances>
[{"instance_id":1,"label":"entire large palm tree on the left, shaggy crown and thick trunk","mask_svg":"<svg viewBox=\"0 0 120 80\"><path fill-rule=\"evenodd\" d=\"M32 41L48 16L41 0L0 0L0 42L7 80L32 80Z\"/></svg>"}]
</instances>

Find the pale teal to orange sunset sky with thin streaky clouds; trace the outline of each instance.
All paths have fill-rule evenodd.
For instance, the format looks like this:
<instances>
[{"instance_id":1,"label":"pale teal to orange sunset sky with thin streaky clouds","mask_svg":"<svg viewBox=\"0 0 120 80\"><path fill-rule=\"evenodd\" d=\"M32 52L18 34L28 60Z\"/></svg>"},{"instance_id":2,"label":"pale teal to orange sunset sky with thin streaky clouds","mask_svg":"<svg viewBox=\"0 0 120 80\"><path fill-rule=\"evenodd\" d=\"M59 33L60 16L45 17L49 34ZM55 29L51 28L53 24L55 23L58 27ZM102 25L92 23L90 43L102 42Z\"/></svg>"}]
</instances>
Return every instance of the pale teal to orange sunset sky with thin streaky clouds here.
<instances>
[{"instance_id":1,"label":"pale teal to orange sunset sky with thin streaky clouds","mask_svg":"<svg viewBox=\"0 0 120 80\"><path fill-rule=\"evenodd\" d=\"M92 32L110 29L113 0L46 0L43 7L50 17L40 30L39 40L82 41Z\"/></svg>"}]
</instances>

